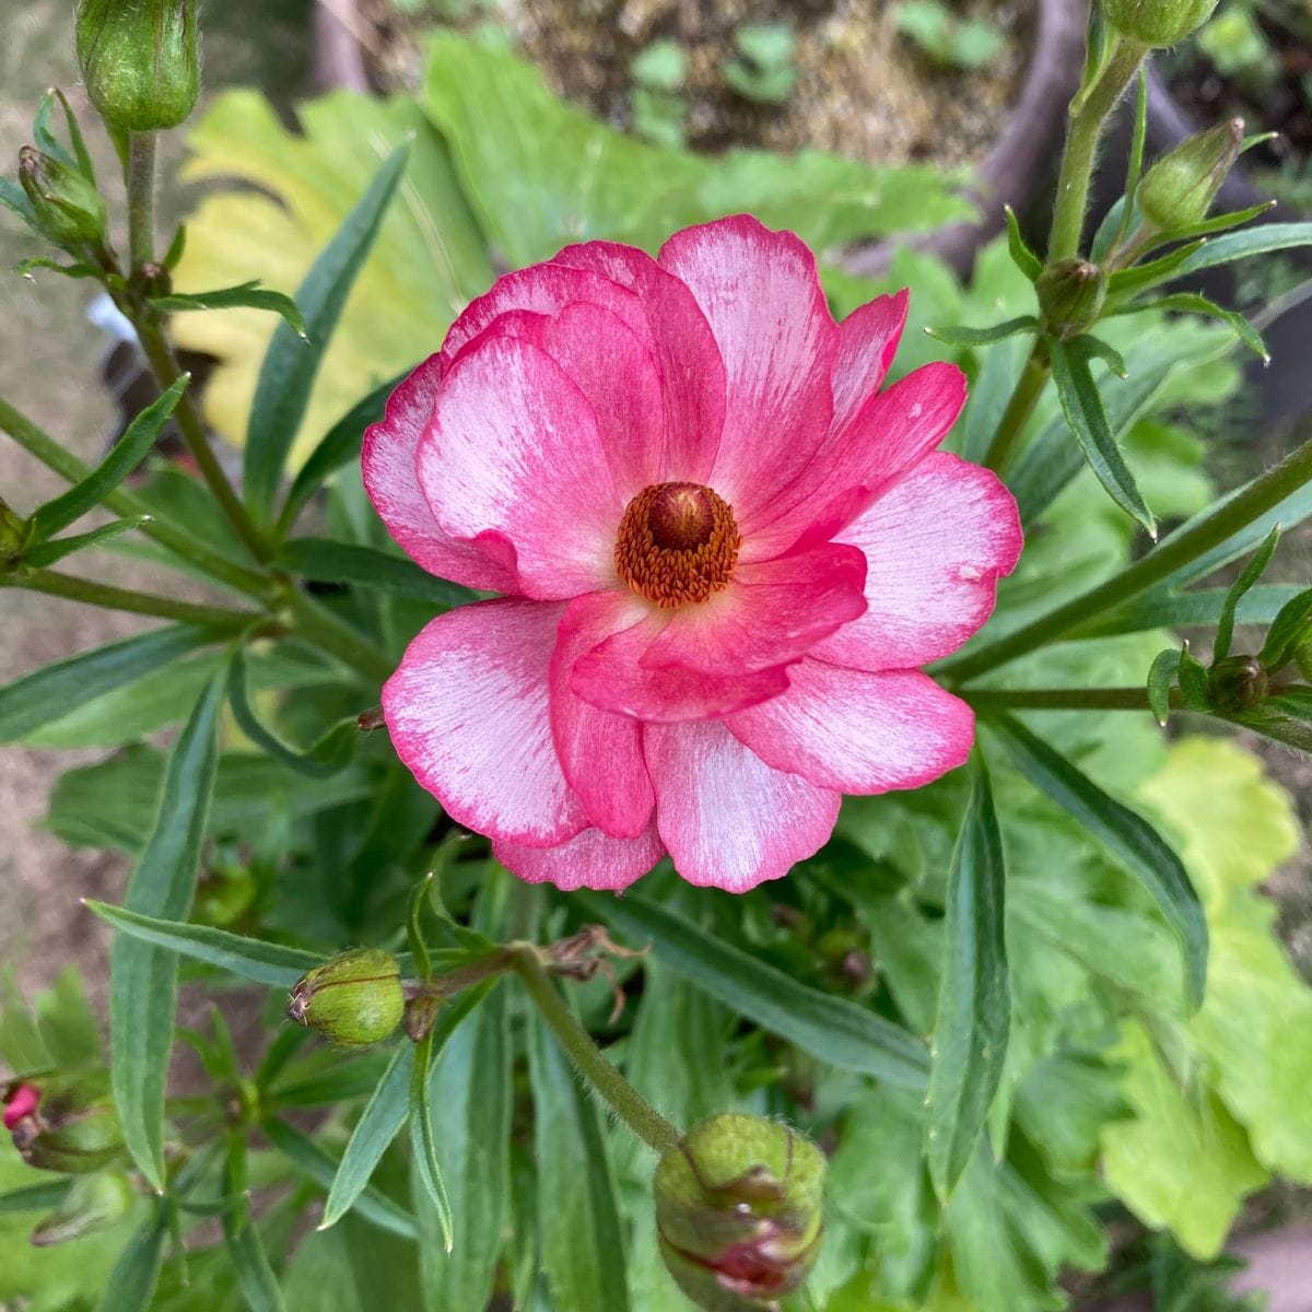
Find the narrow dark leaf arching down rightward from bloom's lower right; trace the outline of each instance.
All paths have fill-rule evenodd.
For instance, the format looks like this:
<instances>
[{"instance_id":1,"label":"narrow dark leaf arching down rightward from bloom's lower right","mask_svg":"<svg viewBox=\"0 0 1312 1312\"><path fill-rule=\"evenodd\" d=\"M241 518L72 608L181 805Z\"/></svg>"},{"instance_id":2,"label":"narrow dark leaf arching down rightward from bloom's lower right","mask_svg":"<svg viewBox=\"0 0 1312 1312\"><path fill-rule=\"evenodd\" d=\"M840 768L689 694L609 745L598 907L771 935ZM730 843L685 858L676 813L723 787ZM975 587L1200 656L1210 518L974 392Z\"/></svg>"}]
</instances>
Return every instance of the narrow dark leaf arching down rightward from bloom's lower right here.
<instances>
[{"instance_id":1,"label":"narrow dark leaf arching down rightward from bloom's lower right","mask_svg":"<svg viewBox=\"0 0 1312 1312\"><path fill-rule=\"evenodd\" d=\"M1000 715L991 724L1030 783L1075 816L1152 893L1179 939L1185 993L1197 1010L1207 981L1207 918L1179 857L1143 816L1103 792L1019 720Z\"/></svg>"}]
</instances>

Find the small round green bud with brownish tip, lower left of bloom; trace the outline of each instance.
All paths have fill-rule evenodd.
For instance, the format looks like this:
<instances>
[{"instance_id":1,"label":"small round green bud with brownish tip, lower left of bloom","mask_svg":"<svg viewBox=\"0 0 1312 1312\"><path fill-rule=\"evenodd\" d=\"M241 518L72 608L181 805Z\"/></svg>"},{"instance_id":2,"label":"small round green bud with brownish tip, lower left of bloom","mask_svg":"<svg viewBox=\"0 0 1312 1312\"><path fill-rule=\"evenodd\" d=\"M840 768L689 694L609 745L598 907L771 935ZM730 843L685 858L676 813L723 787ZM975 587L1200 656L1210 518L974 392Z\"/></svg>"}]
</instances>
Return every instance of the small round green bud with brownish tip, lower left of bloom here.
<instances>
[{"instance_id":1,"label":"small round green bud with brownish tip, lower left of bloom","mask_svg":"<svg viewBox=\"0 0 1312 1312\"><path fill-rule=\"evenodd\" d=\"M363 1048L386 1039L404 1009L396 958L357 947L297 981L287 1018L318 1030L335 1047Z\"/></svg>"}]
</instances>

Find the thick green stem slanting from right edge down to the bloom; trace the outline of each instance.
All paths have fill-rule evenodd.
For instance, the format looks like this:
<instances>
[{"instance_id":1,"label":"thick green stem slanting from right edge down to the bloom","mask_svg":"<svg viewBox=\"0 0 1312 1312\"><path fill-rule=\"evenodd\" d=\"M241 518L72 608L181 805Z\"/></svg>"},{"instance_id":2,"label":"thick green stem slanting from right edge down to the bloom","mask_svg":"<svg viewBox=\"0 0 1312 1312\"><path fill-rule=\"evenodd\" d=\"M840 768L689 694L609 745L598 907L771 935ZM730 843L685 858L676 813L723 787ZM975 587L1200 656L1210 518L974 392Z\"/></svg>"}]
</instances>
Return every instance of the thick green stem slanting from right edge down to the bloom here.
<instances>
[{"instance_id":1,"label":"thick green stem slanting from right edge down to the bloom","mask_svg":"<svg viewBox=\"0 0 1312 1312\"><path fill-rule=\"evenodd\" d=\"M1274 468L1177 529L1153 551L1106 583L1090 588L996 643L980 647L959 660L943 661L938 669L950 673L954 682L966 684L1038 647L1069 638L1094 617L1138 597L1203 552L1220 546L1308 482L1312 482L1312 441L1295 447Z\"/></svg>"}]
</instances>

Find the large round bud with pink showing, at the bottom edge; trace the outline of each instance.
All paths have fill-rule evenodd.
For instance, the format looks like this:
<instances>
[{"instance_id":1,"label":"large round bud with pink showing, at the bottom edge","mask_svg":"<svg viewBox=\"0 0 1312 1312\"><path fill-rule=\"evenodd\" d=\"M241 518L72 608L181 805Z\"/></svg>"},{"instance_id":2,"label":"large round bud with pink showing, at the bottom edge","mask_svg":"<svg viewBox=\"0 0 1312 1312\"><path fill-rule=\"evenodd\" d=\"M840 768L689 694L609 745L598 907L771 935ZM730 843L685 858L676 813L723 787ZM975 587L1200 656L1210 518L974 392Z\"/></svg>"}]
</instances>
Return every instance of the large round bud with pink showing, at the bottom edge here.
<instances>
[{"instance_id":1,"label":"large round bud with pink showing, at the bottom edge","mask_svg":"<svg viewBox=\"0 0 1312 1312\"><path fill-rule=\"evenodd\" d=\"M703 1312L760 1312L800 1287L820 1252L825 1160L777 1120L726 1113L661 1157L661 1257Z\"/></svg>"}]
</instances>

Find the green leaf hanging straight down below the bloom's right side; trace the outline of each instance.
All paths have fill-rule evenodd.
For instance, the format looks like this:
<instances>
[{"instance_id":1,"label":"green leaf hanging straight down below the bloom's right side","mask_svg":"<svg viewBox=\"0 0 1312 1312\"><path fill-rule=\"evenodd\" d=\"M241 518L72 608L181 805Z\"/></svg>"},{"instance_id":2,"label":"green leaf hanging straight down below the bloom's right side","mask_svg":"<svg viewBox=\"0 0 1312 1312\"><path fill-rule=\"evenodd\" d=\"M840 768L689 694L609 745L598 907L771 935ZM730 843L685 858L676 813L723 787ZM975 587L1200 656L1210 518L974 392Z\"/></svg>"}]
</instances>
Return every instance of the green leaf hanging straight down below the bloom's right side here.
<instances>
[{"instance_id":1,"label":"green leaf hanging straight down below the bloom's right side","mask_svg":"<svg viewBox=\"0 0 1312 1312\"><path fill-rule=\"evenodd\" d=\"M925 1157L934 1191L945 1202L984 1132L1012 1026L1002 840L979 760L974 773L947 876L947 956L930 1048Z\"/></svg>"}]
</instances>

